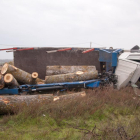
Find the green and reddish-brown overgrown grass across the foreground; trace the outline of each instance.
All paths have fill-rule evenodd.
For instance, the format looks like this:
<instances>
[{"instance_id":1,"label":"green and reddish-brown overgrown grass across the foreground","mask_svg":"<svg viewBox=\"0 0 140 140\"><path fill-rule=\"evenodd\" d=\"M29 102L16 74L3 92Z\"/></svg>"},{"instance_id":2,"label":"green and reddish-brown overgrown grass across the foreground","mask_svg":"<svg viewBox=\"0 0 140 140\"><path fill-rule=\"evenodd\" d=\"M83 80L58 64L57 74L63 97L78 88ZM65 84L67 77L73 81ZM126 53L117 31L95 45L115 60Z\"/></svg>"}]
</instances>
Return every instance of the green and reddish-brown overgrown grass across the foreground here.
<instances>
[{"instance_id":1,"label":"green and reddish-brown overgrown grass across the foreground","mask_svg":"<svg viewBox=\"0 0 140 140\"><path fill-rule=\"evenodd\" d=\"M139 140L140 98L132 88L86 90L68 101L19 106L0 117L4 140Z\"/></svg>"}]
</instances>

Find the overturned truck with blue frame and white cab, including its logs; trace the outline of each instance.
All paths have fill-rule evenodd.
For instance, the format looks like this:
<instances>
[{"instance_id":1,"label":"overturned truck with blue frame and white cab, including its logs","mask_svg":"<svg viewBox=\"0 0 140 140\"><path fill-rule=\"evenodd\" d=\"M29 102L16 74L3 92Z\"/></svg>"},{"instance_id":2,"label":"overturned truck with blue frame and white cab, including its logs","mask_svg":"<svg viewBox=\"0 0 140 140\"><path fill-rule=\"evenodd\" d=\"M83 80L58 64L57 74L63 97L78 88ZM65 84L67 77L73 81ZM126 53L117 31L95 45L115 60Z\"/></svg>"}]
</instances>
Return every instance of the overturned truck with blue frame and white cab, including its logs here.
<instances>
[{"instance_id":1,"label":"overturned truck with blue frame and white cab, including its logs","mask_svg":"<svg viewBox=\"0 0 140 140\"><path fill-rule=\"evenodd\" d=\"M136 74L139 62L134 62L134 54L129 54L131 59L122 49L17 49L14 51L15 66L5 64L2 68L3 85L0 86L5 88L0 90L0 94L93 88L111 82L119 89L130 81L135 84L139 78ZM130 70L127 73L128 65ZM124 70L126 72L123 73Z\"/></svg>"}]
</instances>

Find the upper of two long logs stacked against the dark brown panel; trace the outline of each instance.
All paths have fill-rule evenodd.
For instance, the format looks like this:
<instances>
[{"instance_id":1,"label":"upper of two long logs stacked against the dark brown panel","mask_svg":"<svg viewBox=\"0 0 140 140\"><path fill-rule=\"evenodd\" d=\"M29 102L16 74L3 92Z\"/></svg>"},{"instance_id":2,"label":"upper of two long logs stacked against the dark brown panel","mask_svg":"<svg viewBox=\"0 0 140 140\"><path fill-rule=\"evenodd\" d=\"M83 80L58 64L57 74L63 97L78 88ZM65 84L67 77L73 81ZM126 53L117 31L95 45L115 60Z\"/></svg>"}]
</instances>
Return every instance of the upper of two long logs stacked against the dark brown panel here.
<instances>
[{"instance_id":1,"label":"upper of two long logs stacked against the dark brown panel","mask_svg":"<svg viewBox=\"0 0 140 140\"><path fill-rule=\"evenodd\" d=\"M96 70L95 66L46 66L46 76L74 73L76 71L89 72Z\"/></svg>"}]
</instances>

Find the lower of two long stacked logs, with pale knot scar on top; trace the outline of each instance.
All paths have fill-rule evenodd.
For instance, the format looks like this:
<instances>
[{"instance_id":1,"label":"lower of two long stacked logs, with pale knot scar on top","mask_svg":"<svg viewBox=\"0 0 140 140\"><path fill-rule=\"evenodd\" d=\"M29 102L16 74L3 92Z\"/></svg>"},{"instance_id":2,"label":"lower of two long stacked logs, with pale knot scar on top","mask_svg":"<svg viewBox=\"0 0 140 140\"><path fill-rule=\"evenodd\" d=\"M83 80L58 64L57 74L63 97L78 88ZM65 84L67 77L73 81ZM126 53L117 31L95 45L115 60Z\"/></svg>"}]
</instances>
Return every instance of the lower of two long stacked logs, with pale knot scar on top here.
<instances>
[{"instance_id":1,"label":"lower of two long stacked logs, with pale knot scar on top","mask_svg":"<svg viewBox=\"0 0 140 140\"><path fill-rule=\"evenodd\" d=\"M77 71L76 73L52 75L45 77L45 83L61 83L61 82L74 82L74 81L86 81L95 79L98 77L98 71L82 72Z\"/></svg>"}]
</instances>

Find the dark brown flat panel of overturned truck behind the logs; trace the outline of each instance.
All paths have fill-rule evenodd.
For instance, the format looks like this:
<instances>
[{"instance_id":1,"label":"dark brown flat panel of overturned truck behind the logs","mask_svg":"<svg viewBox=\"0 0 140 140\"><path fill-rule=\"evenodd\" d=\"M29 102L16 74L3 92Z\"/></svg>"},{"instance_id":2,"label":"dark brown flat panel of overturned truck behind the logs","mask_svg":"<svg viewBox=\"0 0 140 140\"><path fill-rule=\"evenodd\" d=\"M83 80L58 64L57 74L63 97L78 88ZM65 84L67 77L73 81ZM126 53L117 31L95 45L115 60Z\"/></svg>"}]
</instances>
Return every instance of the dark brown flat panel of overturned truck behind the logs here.
<instances>
[{"instance_id":1,"label":"dark brown flat panel of overturned truck behind the logs","mask_svg":"<svg viewBox=\"0 0 140 140\"><path fill-rule=\"evenodd\" d=\"M92 51L82 54L84 48L74 48L65 52L46 53L59 48L39 48L14 52L14 64L29 73L38 72L39 78L45 79L46 66L53 65L95 65L100 72L99 52Z\"/></svg>"}]
</instances>

